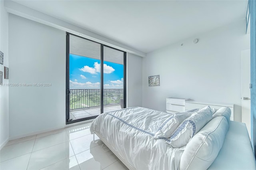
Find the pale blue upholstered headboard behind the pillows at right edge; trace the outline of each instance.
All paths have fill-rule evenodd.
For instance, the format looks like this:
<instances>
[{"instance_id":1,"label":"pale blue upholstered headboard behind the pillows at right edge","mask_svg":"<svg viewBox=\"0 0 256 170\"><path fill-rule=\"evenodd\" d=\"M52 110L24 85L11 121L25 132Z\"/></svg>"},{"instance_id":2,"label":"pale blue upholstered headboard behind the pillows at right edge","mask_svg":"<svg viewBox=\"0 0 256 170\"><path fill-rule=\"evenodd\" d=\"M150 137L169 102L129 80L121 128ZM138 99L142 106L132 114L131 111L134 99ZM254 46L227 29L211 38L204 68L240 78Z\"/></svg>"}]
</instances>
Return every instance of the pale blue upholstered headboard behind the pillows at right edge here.
<instances>
[{"instance_id":1,"label":"pale blue upholstered headboard behind the pillows at right edge","mask_svg":"<svg viewBox=\"0 0 256 170\"><path fill-rule=\"evenodd\" d=\"M230 121L223 146L208 170L256 170L246 125Z\"/></svg>"}]
</instances>

